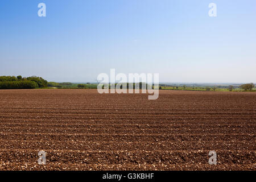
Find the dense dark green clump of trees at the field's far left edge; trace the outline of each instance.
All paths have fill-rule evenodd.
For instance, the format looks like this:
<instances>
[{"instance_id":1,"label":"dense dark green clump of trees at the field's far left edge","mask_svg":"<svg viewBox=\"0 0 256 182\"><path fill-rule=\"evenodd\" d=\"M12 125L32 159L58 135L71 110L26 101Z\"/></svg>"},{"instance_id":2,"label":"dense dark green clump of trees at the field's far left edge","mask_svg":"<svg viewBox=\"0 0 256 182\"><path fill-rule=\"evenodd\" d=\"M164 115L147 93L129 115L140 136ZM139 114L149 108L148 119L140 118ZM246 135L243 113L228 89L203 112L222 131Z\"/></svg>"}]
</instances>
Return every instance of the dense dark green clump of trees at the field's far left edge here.
<instances>
[{"instance_id":1,"label":"dense dark green clump of trees at the field's far left edge","mask_svg":"<svg viewBox=\"0 0 256 182\"><path fill-rule=\"evenodd\" d=\"M46 88L47 80L42 77L0 76L0 89Z\"/></svg>"}]
</instances>

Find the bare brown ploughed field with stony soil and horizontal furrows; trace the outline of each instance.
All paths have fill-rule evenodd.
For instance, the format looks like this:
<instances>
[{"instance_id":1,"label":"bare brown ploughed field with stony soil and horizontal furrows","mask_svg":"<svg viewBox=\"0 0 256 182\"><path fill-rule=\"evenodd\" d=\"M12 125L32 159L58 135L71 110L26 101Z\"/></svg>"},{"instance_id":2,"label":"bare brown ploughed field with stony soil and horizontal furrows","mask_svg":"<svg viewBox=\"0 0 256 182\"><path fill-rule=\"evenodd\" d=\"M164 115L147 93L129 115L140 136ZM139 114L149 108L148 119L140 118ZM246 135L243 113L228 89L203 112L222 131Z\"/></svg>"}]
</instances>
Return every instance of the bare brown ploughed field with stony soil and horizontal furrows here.
<instances>
[{"instance_id":1,"label":"bare brown ploughed field with stony soil and horizontal furrows","mask_svg":"<svg viewBox=\"0 0 256 182\"><path fill-rule=\"evenodd\" d=\"M255 92L0 90L0 170L255 170L255 129Z\"/></svg>"}]
</instances>

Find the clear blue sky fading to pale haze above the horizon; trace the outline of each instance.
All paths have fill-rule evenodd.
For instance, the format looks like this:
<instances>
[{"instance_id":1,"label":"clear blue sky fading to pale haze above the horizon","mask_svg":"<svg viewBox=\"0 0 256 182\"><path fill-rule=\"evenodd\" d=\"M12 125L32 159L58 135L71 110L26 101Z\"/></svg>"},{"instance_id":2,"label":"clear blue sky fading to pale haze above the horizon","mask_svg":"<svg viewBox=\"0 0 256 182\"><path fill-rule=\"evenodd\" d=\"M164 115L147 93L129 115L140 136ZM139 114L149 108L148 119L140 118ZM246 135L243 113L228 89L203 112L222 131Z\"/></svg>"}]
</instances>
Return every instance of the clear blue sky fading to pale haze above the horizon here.
<instances>
[{"instance_id":1,"label":"clear blue sky fading to pale haze above the horizon","mask_svg":"<svg viewBox=\"0 0 256 182\"><path fill-rule=\"evenodd\" d=\"M0 2L0 75L87 82L110 68L160 82L256 82L256 1Z\"/></svg>"}]
</instances>

